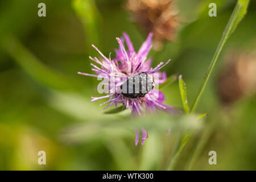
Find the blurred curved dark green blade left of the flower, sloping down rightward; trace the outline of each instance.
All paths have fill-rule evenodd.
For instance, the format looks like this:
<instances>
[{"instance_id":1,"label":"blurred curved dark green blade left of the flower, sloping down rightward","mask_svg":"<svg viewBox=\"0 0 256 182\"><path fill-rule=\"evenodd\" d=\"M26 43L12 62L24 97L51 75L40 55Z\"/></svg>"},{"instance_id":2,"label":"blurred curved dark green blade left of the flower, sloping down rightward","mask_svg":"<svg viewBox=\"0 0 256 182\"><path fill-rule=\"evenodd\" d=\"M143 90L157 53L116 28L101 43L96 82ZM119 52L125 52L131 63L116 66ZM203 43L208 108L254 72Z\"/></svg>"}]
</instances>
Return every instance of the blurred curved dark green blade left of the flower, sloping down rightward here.
<instances>
[{"instance_id":1,"label":"blurred curved dark green blade left of the flower, sloping down rightward","mask_svg":"<svg viewBox=\"0 0 256 182\"><path fill-rule=\"evenodd\" d=\"M48 68L32 52L20 43L14 35L7 35L2 40L2 48L23 68L32 78L48 88L57 90L81 91L82 83L73 77L69 77Z\"/></svg>"}]
</instances>

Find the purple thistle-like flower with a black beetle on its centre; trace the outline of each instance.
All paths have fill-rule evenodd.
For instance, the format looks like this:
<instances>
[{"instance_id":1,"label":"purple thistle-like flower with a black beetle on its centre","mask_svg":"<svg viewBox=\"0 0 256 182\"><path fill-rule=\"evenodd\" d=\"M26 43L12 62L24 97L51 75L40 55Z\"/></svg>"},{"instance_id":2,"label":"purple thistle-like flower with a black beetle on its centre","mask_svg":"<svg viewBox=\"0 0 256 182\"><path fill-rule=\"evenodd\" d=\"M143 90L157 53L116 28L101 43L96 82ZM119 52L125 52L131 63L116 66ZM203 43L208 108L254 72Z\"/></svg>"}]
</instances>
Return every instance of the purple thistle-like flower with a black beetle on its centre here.
<instances>
[{"instance_id":1,"label":"purple thistle-like flower with a black beetle on its centre","mask_svg":"<svg viewBox=\"0 0 256 182\"><path fill-rule=\"evenodd\" d=\"M166 73L160 73L159 70L170 62L161 62L155 68L151 68L151 59L147 60L147 54L151 48L152 33L142 44L138 52L134 51L133 44L129 36L123 33L123 38L117 38L119 48L115 49L116 57L111 59L104 56L97 47L92 45L102 57L102 61L97 57L89 57L92 61L101 66L92 65L92 70L96 75L78 72L80 75L108 78L104 85L108 94L102 97L92 97L92 101L109 98L108 101L101 105L105 107L122 104L126 109L131 110L131 116L142 115L144 113L156 113L157 110L174 114L180 111L174 110L174 107L163 104L164 94L155 89L155 86L166 81ZM125 49L125 42L128 50ZM131 88L131 90L130 90ZM127 91L127 92L126 92ZM131 91L131 92L129 92ZM139 131L136 130L135 144L139 141ZM142 144L147 137L147 132L142 129Z\"/></svg>"}]
</instances>

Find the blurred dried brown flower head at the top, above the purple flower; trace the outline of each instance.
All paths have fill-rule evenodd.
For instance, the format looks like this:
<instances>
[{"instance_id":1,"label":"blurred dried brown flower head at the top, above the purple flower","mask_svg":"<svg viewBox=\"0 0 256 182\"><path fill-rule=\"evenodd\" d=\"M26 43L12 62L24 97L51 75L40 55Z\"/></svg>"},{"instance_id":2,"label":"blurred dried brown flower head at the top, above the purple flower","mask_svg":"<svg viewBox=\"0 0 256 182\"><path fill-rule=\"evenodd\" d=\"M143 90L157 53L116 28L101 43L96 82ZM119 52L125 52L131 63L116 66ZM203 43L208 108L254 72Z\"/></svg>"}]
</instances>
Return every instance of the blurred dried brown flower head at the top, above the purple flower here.
<instances>
[{"instance_id":1,"label":"blurred dried brown flower head at the top, above the purple flower","mask_svg":"<svg viewBox=\"0 0 256 182\"><path fill-rule=\"evenodd\" d=\"M160 49L164 40L175 40L179 18L174 0L128 0L126 7L135 22L154 34L155 49Z\"/></svg>"}]
</instances>

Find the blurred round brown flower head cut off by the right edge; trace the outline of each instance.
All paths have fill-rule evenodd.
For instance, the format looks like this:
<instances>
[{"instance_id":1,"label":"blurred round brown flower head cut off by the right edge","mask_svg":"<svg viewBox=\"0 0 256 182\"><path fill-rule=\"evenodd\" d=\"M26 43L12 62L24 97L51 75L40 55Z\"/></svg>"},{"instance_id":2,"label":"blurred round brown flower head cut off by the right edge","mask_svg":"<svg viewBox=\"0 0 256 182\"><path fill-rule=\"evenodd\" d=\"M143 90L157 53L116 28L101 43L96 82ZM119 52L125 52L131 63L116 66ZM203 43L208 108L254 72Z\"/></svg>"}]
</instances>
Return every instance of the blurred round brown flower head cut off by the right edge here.
<instances>
[{"instance_id":1,"label":"blurred round brown flower head cut off by the right edge","mask_svg":"<svg viewBox=\"0 0 256 182\"><path fill-rule=\"evenodd\" d=\"M232 52L218 78L217 88L225 103L256 91L256 52Z\"/></svg>"}]
</instances>

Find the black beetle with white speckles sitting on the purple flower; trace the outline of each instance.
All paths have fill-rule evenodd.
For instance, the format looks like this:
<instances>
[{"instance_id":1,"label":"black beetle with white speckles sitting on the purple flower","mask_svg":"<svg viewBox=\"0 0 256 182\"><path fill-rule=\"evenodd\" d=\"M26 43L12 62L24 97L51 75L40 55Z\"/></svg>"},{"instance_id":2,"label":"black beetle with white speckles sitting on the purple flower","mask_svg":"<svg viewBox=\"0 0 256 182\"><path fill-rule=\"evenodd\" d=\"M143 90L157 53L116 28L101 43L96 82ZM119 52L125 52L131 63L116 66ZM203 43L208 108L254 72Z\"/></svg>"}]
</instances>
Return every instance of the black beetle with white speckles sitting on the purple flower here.
<instances>
[{"instance_id":1,"label":"black beetle with white speckles sitting on the purple flower","mask_svg":"<svg viewBox=\"0 0 256 182\"><path fill-rule=\"evenodd\" d=\"M122 84L122 95L128 98L144 97L154 86L155 82L152 75L141 72L130 77Z\"/></svg>"}]
</instances>

